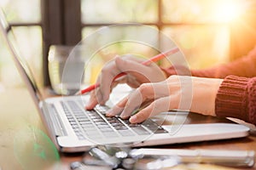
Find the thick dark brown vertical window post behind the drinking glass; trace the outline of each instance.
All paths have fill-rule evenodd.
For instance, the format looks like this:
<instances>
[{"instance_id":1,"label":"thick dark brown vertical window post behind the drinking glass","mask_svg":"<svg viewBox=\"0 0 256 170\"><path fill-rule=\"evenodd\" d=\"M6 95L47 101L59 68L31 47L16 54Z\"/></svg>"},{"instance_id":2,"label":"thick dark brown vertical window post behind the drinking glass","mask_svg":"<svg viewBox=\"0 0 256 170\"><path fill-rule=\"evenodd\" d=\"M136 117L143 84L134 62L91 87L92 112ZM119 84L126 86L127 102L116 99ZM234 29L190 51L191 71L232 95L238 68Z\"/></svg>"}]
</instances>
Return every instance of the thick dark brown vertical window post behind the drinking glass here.
<instances>
[{"instance_id":1,"label":"thick dark brown vertical window post behind the drinking glass","mask_svg":"<svg viewBox=\"0 0 256 170\"><path fill-rule=\"evenodd\" d=\"M42 0L44 86L50 86L48 53L51 45L75 45L81 40L80 1Z\"/></svg>"}]
</instances>

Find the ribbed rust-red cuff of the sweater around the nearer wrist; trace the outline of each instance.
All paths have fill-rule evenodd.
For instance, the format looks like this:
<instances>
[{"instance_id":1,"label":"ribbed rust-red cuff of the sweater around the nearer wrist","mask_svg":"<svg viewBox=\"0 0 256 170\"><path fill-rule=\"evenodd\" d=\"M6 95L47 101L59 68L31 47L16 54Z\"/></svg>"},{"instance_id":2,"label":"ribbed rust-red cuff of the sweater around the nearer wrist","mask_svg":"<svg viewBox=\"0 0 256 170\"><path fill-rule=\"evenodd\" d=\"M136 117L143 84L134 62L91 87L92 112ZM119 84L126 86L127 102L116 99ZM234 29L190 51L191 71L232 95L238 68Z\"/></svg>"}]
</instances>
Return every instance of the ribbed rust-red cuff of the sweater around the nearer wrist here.
<instances>
[{"instance_id":1,"label":"ribbed rust-red cuff of the sweater around the nearer wrist","mask_svg":"<svg viewBox=\"0 0 256 170\"><path fill-rule=\"evenodd\" d=\"M217 116L236 117L248 122L247 82L249 78L228 76L221 83L215 100Z\"/></svg>"}]
</instances>

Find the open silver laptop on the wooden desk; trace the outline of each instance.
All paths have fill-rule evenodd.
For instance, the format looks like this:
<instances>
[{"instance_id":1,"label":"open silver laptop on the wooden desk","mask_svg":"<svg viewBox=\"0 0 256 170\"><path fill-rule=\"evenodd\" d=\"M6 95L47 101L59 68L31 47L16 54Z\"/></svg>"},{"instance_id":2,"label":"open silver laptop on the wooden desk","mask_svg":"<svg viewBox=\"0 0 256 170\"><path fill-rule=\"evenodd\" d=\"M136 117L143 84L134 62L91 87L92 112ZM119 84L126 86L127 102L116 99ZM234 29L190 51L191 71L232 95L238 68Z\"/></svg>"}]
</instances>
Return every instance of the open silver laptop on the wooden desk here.
<instances>
[{"instance_id":1,"label":"open silver laptop on the wooden desk","mask_svg":"<svg viewBox=\"0 0 256 170\"><path fill-rule=\"evenodd\" d=\"M111 105L96 105L85 111L88 95L61 96L43 99L29 66L15 46L15 35L0 10L0 29L15 65L38 108L50 139L61 152L90 150L97 144L141 147L159 144L177 144L217 139L246 137L249 128L218 119L206 123L207 116L187 111L168 111L143 123L131 124L119 116L108 117L105 112ZM110 98L122 98L122 89L113 89ZM123 93L124 94L124 93ZM191 124L191 120L201 120Z\"/></svg>"}]
</instances>

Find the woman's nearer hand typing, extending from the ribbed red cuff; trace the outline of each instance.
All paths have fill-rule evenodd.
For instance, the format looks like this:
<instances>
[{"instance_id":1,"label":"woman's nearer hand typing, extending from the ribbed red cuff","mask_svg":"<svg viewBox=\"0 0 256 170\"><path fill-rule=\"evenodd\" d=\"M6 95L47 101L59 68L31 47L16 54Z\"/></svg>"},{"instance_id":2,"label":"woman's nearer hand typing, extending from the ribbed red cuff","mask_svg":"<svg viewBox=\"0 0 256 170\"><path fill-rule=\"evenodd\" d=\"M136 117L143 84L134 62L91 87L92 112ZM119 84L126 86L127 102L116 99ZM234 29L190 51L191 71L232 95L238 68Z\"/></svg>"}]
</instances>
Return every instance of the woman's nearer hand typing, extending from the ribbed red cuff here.
<instances>
[{"instance_id":1,"label":"woman's nearer hand typing, extending from the ribbed red cuff","mask_svg":"<svg viewBox=\"0 0 256 170\"><path fill-rule=\"evenodd\" d=\"M113 106L107 115L128 118L143 103L153 101L131 116L130 122L143 122L149 116L173 109L215 116L215 97L221 82L217 78L172 76L163 82L144 83Z\"/></svg>"}]
</instances>

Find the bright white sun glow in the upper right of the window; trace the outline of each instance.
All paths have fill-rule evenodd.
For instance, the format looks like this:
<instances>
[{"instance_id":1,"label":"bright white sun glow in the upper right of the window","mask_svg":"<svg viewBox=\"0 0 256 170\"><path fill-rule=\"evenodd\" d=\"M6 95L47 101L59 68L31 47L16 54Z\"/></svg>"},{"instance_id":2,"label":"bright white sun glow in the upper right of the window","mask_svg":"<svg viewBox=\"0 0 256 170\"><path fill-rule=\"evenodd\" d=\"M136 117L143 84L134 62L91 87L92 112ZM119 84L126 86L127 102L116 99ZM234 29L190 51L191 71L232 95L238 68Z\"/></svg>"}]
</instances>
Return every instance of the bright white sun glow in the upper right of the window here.
<instances>
[{"instance_id":1,"label":"bright white sun glow in the upper right of the window","mask_svg":"<svg viewBox=\"0 0 256 170\"><path fill-rule=\"evenodd\" d=\"M216 20L231 22L236 20L242 12L241 1L223 1L216 6Z\"/></svg>"}]
</instances>

